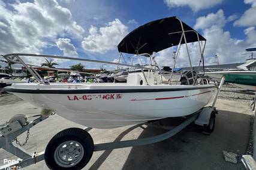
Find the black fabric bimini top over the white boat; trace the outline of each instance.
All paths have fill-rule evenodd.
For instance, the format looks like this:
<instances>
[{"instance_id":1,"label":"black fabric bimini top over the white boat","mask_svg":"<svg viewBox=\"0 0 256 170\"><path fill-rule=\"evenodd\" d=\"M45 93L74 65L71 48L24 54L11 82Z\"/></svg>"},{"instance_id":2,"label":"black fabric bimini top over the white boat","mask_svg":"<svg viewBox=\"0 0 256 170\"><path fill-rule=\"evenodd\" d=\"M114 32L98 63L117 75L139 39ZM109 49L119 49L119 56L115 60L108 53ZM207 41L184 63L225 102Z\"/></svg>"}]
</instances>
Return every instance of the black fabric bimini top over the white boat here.
<instances>
[{"instance_id":1,"label":"black fabric bimini top over the white boat","mask_svg":"<svg viewBox=\"0 0 256 170\"><path fill-rule=\"evenodd\" d=\"M151 21L134 29L118 44L118 51L129 54L152 54L179 44L182 36L182 25L186 42L198 41L197 32L177 17L162 18ZM189 32L186 32L189 31ZM199 41L206 39L198 33ZM181 44L185 44L182 38Z\"/></svg>"}]
</instances>

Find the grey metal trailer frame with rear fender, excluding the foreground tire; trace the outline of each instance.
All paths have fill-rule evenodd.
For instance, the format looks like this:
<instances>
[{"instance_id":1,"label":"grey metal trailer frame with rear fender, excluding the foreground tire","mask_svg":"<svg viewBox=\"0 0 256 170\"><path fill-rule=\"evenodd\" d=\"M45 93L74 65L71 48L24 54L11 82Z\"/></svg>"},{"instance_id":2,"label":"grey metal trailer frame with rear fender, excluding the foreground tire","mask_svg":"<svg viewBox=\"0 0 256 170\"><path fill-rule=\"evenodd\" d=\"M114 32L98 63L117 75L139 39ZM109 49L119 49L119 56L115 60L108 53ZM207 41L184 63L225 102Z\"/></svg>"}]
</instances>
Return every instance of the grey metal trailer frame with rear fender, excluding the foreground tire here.
<instances>
[{"instance_id":1,"label":"grey metal trailer frame with rear fender, excluding the foreground tire","mask_svg":"<svg viewBox=\"0 0 256 170\"><path fill-rule=\"evenodd\" d=\"M127 141L116 141L113 143L101 143L101 144L93 144L92 152L97 152L100 150L110 150L110 149L118 149L123 147L133 147L133 146L143 146L146 144L153 144L157 143L159 141L166 140L167 138L173 137L173 135L177 134L177 132L182 131L182 129L186 128L190 123L194 122L197 125L200 125L203 127L203 129L209 129L209 131L205 131L206 133L211 133L214 128L215 123L215 113L218 113L215 109L215 103L218 97L219 92L221 91L221 87L224 84L224 78L222 78L221 83L219 84L218 91L216 92L215 98L213 100L213 104L210 107L204 107L201 110L198 110L198 112L195 112L194 114L188 116L186 120L180 125L175 126L174 128L167 128L166 126L159 126L155 125L154 123L141 123L140 125L135 125L134 127L141 126L143 124L147 126L153 126L156 128L164 128L164 129L170 129L169 131L165 132L164 134L155 135L153 137L147 137L147 138L141 138L141 139L135 139L135 140L127 140ZM28 122L28 118L25 115L16 115L13 118L11 118L8 122L4 123L4 125L0 125L0 149L4 149L9 153L14 154L15 156L19 157L19 160L14 161L12 163L6 163L2 166L0 166L0 170L5 170L6 168L10 167L26 167L32 164L35 164L37 162L40 162L41 160L46 159L45 152L34 152L29 153L27 150L23 149L22 145L14 144L14 142L17 140L17 137L20 134L23 134L24 132L28 131L35 125L37 125L40 122L43 122L43 120L46 120L49 118L48 116L51 116L50 114L51 110L43 110L45 112L48 112L47 114L43 114L41 112L41 115L35 115L35 119L31 122ZM42 116L46 115L46 116ZM36 118L38 117L38 118ZM88 135L88 131L91 128L85 128L84 132L86 132ZM81 129L80 129L81 130ZM65 131L65 130L64 130ZM90 135L91 137L91 135ZM76 139L74 139L76 140ZM19 143L18 143L19 144ZM91 157L89 158L91 159ZM89 160L88 160L89 161ZM71 167L72 168L72 167ZM53 168L54 169L54 168Z\"/></svg>"}]
</instances>

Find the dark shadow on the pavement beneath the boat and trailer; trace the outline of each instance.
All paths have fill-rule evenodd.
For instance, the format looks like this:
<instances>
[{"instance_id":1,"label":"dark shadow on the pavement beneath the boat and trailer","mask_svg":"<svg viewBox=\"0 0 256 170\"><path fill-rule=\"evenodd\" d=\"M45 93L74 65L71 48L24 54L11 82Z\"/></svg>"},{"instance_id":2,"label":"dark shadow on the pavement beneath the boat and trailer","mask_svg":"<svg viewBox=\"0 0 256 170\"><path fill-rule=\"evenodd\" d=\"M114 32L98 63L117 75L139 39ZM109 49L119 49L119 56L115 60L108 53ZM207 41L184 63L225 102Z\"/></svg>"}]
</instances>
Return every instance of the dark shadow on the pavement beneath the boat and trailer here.
<instances>
[{"instance_id":1,"label":"dark shadow on the pavement beneath the boat and trailer","mask_svg":"<svg viewBox=\"0 0 256 170\"><path fill-rule=\"evenodd\" d=\"M215 131L204 135L193 124L168 140L147 146L133 147L122 169L245 169L241 162L237 165L225 162L222 151L245 153L249 141L249 115L219 110ZM177 125L180 118L165 119L164 125ZM134 128L122 132L115 141L121 140ZM144 128L138 138L150 137L166 132L164 129ZM89 169L98 169L112 150L107 150ZM120 158L122 159L122 158ZM118 159L116 159L118 161ZM114 168L115 169L115 168Z\"/></svg>"}]
</instances>

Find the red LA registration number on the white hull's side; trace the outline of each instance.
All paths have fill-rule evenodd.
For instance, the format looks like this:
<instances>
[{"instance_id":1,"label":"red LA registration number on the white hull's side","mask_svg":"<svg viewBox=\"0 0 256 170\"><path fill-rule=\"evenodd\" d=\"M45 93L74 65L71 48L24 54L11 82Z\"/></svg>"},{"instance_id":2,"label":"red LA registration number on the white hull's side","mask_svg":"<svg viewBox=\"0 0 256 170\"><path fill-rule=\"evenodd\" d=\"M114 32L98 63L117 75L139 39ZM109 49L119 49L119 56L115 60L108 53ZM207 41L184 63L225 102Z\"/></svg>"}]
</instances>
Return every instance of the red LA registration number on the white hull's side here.
<instances>
[{"instance_id":1,"label":"red LA registration number on the white hull's side","mask_svg":"<svg viewBox=\"0 0 256 170\"><path fill-rule=\"evenodd\" d=\"M68 100L116 100L121 99L122 94L89 94L89 95L68 95Z\"/></svg>"}]
</instances>

